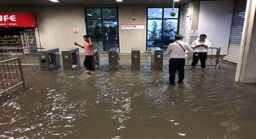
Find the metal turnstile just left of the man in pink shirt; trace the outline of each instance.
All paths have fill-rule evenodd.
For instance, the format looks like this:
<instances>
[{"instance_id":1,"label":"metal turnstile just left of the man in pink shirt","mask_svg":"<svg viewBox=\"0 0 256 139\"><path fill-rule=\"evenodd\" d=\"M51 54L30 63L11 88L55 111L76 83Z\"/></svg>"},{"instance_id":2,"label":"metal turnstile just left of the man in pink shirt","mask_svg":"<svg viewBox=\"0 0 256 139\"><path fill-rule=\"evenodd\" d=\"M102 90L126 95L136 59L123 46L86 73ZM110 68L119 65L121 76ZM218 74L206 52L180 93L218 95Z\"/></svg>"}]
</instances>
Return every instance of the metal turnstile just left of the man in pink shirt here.
<instances>
[{"instance_id":1,"label":"metal turnstile just left of the man in pink shirt","mask_svg":"<svg viewBox=\"0 0 256 139\"><path fill-rule=\"evenodd\" d=\"M61 51L63 70L73 70L80 67L79 48L69 48Z\"/></svg>"}]
</instances>

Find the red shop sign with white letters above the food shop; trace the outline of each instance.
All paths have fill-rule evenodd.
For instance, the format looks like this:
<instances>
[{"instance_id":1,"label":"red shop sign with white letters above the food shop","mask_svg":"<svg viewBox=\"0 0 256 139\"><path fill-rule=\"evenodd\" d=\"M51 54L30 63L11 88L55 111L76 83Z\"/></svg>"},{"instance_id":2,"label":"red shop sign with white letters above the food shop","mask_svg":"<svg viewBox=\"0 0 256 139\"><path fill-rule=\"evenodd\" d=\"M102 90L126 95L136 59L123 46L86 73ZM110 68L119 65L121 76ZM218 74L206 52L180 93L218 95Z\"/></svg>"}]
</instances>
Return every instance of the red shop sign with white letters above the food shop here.
<instances>
[{"instance_id":1,"label":"red shop sign with white letters above the food shop","mask_svg":"<svg viewBox=\"0 0 256 139\"><path fill-rule=\"evenodd\" d=\"M0 27L37 27L35 13L0 13Z\"/></svg>"}]
</instances>

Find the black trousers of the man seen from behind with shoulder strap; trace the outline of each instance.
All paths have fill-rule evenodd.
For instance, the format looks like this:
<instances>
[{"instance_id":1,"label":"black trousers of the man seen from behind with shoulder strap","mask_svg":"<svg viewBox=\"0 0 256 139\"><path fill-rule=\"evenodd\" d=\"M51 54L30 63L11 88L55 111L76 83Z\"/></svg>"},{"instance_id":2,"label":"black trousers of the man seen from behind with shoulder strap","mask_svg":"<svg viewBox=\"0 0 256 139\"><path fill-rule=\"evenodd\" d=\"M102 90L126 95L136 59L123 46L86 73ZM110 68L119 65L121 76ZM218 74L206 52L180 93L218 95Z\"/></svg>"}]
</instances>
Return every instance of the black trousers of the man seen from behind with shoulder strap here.
<instances>
[{"instance_id":1,"label":"black trousers of the man seen from behind with shoulder strap","mask_svg":"<svg viewBox=\"0 0 256 139\"><path fill-rule=\"evenodd\" d=\"M169 81L170 83L175 83L175 74L178 70L178 81L182 82L185 76L185 58L170 58L169 60Z\"/></svg>"}]
</instances>

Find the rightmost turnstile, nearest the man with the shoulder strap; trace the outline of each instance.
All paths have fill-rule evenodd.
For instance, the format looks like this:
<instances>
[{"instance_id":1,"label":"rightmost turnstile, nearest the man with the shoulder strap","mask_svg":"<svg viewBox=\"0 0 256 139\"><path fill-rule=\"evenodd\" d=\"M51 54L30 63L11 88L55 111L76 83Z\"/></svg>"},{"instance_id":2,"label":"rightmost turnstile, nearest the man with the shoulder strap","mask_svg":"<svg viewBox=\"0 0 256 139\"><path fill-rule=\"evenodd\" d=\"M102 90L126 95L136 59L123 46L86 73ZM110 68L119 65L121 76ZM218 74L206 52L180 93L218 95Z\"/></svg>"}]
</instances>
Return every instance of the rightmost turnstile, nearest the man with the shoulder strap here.
<instances>
[{"instance_id":1,"label":"rightmost turnstile, nearest the man with the shoulder strap","mask_svg":"<svg viewBox=\"0 0 256 139\"><path fill-rule=\"evenodd\" d=\"M151 47L151 66L154 70L163 70L163 49L159 47Z\"/></svg>"}]
</instances>

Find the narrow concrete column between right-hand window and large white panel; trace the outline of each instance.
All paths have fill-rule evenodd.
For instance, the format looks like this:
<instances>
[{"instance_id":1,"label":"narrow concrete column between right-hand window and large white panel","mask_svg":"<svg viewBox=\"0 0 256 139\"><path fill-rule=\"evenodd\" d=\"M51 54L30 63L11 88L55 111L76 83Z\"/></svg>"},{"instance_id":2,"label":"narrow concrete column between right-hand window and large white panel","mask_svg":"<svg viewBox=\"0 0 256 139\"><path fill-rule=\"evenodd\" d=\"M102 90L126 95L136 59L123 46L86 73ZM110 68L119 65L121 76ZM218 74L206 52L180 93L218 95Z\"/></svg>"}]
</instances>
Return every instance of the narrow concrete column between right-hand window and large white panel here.
<instances>
[{"instance_id":1,"label":"narrow concrete column between right-hand window and large white panel","mask_svg":"<svg viewBox=\"0 0 256 139\"><path fill-rule=\"evenodd\" d=\"M192 16L191 16L191 30L198 30L199 21L199 10L200 10L200 0L192 0ZM189 31L190 36L190 31ZM190 44L198 37L190 36Z\"/></svg>"}]
</instances>

